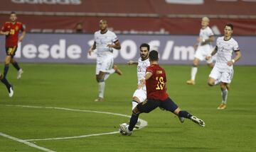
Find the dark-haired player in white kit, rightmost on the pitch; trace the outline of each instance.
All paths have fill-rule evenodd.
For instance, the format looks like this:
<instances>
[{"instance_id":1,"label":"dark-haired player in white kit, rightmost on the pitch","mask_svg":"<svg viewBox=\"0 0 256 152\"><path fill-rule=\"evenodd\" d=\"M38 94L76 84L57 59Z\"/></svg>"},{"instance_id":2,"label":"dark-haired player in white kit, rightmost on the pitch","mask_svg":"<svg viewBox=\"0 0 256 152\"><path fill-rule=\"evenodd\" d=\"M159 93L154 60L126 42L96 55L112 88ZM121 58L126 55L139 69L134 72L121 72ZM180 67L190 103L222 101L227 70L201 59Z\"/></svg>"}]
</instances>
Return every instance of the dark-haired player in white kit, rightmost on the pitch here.
<instances>
[{"instance_id":1,"label":"dark-haired player in white kit, rightmost on the pitch","mask_svg":"<svg viewBox=\"0 0 256 152\"><path fill-rule=\"evenodd\" d=\"M233 78L233 65L241 57L238 42L232 36L233 25L225 24L224 36L218 37L216 47L206 59L217 53L216 63L208 78L208 85L215 86L220 83L222 102L218 109L223 110L227 107L227 98L229 84ZM235 52L235 57L232 59L232 54Z\"/></svg>"}]
</instances>

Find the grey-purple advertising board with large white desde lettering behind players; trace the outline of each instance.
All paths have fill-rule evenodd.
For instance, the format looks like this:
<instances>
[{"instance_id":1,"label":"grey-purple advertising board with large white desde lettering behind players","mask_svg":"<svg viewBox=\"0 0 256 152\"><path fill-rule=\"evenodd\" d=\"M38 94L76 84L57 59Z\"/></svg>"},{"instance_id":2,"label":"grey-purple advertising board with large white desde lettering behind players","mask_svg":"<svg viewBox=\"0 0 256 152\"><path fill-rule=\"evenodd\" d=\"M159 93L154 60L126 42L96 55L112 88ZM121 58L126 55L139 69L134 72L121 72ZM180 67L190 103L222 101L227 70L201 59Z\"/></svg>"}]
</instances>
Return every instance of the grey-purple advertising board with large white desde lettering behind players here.
<instances>
[{"instance_id":1,"label":"grey-purple advertising board with large white desde lettering behind players","mask_svg":"<svg viewBox=\"0 0 256 152\"><path fill-rule=\"evenodd\" d=\"M161 64L191 64L198 35L118 35L122 49L114 50L114 62L126 64L139 58L139 45L149 43L160 54ZM253 47L255 36L235 36L240 45L242 59L237 64L256 65ZM4 61L4 36L0 37L0 61ZM87 49L93 43L91 34L36 34L28 33L16 52L18 62L28 63L95 63Z\"/></svg>"}]
</instances>

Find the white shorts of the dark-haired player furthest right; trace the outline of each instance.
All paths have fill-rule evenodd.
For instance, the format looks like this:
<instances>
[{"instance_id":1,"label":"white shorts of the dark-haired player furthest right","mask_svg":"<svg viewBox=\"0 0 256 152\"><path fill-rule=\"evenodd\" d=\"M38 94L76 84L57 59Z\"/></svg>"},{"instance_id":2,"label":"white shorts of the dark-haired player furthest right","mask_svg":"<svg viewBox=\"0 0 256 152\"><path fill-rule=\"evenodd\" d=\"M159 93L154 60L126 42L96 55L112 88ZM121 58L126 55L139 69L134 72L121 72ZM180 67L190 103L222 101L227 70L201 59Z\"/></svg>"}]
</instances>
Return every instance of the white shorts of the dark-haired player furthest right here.
<instances>
[{"instance_id":1,"label":"white shorts of the dark-haired player furthest right","mask_svg":"<svg viewBox=\"0 0 256 152\"><path fill-rule=\"evenodd\" d=\"M212 71L210 71L209 77L214 78L215 80L218 80L220 82L231 83L233 74L233 69L220 69L214 66Z\"/></svg>"}]
</instances>

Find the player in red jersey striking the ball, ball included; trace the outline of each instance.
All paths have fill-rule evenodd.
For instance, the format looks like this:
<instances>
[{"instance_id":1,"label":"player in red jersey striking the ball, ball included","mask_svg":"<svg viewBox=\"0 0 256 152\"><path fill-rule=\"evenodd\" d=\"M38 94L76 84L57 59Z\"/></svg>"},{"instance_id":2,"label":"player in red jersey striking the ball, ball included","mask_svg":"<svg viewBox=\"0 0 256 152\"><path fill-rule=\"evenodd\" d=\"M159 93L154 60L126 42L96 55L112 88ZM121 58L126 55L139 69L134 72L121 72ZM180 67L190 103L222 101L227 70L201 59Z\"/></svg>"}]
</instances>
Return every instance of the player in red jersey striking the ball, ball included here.
<instances>
[{"instance_id":1,"label":"player in red jersey striking the ball, ball included","mask_svg":"<svg viewBox=\"0 0 256 152\"><path fill-rule=\"evenodd\" d=\"M158 64L159 56L158 52L152 50L149 52L149 62L150 66L146 68L146 75L142 79L142 85L146 84L146 100L139 103L137 107L132 110L132 117L128 124L120 124L120 133L123 135L131 135L135 124L138 121L139 114L149 113L156 107L173 112L178 117L184 117L191 119L196 124L201 127L205 127L205 123L202 119L191 115L185 110L181 110L174 101L169 98L166 93L166 73L161 66Z\"/></svg>"}]
</instances>

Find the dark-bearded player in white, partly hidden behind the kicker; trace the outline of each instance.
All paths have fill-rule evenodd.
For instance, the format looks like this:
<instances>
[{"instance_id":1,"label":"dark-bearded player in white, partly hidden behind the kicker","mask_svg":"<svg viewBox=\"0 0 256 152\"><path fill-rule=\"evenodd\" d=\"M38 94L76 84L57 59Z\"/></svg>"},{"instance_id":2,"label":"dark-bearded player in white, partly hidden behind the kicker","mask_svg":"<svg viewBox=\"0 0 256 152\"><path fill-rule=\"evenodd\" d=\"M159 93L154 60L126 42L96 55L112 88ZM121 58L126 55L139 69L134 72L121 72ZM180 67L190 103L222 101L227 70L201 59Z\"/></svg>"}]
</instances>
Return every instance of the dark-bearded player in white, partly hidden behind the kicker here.
<instances>
[{"instance_id":1,"label":"dark-bearded player in white, partly hidden behind the kicker","mask_svg":"<svg viewBox=\"0 0 256 152\"><path fill-rule=\"evenodd\" d=\"M142 78L144 78L146 74L146 68L150 65L149 62L149 45L146 43L143 43L139 47L140 49L140 58L138 59L138 62L129 61L128 64L137 65L137 78L138 78L138 88L135 90L134 95L132 96L132 110L134 107L136 107L139 103L142 103L144 100L146 100L146 86L139 87L140 81Z\"/></svg>"}]
</instances>

